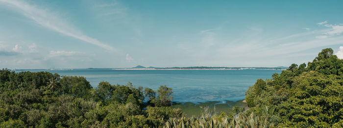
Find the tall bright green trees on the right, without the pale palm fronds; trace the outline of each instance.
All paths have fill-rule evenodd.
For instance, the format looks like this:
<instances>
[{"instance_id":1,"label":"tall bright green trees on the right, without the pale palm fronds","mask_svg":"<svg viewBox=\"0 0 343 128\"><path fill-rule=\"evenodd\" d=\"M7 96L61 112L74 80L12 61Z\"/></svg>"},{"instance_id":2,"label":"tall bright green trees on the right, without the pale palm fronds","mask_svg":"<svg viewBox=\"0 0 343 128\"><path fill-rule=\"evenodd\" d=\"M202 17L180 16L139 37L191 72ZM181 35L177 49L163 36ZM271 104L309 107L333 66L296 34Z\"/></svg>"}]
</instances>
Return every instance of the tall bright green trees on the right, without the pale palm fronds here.
<instances>
[{"instance_id":1,"label":"tall bright green trees on the right, without the pale palm fronds","mask_svg":"<svg viewBox=\"0 0 343 128\"><path fill-rule=\"evenodd\" d=\"M292 64L246 91L248 112L275 108L269 122L282 127L343 127L343 59L323 49L312 62Z\"/></svg>"}]
</instances>

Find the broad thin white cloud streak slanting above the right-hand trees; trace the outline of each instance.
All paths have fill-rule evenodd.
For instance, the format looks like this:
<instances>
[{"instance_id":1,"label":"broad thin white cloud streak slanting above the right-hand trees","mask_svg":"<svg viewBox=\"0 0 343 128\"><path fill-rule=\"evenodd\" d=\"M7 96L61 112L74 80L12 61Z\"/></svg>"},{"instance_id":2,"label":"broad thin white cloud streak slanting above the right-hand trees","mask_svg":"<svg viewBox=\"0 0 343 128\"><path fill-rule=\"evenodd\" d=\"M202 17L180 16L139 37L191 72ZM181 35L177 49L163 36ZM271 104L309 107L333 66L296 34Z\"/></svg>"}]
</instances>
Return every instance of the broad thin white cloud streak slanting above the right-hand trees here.
<instances>
[{"instance_id":1,"label":"broad thin white cloud streak slanting above the right-hand trees","mask_svg":"<svg viewBox=\"0 0 343 128\"><path fill-rule=\"evenodd\" d=\"M319 23L319 25L327 26L327 21ZM306 31L273 40L256 40L256 42L249 42L249 40L242 39L240 42L243 43L238 46L233 47L231 44L229 44L226 47L221 47L220 54L227 55L239 53L244 57L249 55L250 57L258 58L261 56L286 55L319 47L343 44L343 36L331 36L329 34L323 34L327 33L328 31L332 31L332 29ZM316 34L322 35L316 36ZM307 38L312 36L316 38ZM298 38L301 39L297 40ZM268 42L279 45L266 45L270 44Z\"/></svg>"}]
</instances>

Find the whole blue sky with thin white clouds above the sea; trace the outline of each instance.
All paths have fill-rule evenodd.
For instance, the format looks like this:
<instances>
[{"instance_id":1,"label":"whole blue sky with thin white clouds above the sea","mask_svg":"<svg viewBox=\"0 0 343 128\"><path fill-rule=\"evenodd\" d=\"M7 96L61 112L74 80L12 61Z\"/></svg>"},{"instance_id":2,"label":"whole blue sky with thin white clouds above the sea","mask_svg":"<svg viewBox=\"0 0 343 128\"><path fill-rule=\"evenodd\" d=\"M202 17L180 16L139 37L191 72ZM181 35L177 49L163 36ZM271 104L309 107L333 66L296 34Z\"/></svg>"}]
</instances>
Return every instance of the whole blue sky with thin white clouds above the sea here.
<instances>
[{"instance_id":1,"label":"whole blue sky with thin white clouds above the sea","mask_svg":"<svg viewBox=\"0 0 343 128\"><path fill-rule=\"evenodd\" d=\"M0 68L277 67L343 58L343 0L0 0Z\"/></svg>"}]
</instances>

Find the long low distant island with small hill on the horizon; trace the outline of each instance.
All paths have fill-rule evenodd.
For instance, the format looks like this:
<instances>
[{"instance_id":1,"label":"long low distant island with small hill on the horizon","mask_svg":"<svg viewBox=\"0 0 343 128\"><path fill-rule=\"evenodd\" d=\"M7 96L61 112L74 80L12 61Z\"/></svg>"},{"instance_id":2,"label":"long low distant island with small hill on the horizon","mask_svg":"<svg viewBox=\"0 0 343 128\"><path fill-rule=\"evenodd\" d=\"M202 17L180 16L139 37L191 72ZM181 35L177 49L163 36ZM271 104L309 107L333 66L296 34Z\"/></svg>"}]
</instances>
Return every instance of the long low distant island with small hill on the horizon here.
<instances>
[{"instance_id":1,"label":"long low distant island with small hill on the horizon","mask_svg":"<svg viewBox=\"0 0 343 128\"><path fill-rule=\"evenodd\" d=\"M112 70L245 70L245 69L256 69L256 70L286 70L288 67L167 67L167 68L156 68L156 67L144 67L138 65L133 68L114 68Z\"/></svg>"}]
</instances>

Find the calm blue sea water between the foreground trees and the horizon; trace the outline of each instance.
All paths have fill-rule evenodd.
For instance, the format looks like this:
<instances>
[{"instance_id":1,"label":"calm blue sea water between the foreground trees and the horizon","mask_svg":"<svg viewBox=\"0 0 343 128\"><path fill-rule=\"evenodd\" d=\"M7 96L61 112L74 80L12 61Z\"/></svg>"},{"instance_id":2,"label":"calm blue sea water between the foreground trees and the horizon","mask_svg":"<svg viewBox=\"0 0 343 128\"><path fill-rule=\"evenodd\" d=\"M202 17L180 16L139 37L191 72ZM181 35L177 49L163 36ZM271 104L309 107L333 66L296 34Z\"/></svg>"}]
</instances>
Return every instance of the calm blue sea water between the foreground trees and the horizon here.
<instances>
[{"instance_id":1,"label":"calm blue sea water between the foreground trees and the horizon","mask_svg":"<svg viewBox=\"0 0 343 128\"><path fill-rule=\"evenodd\" d=\"M83 76L93 87L100 81L111 84L132 82L157 90L160 85L173 89L176 102L239 101L245 99L245 91L258 78L271 78L280 70L111 70L74 69L31 70L47 71L59 75Z\"/></svg>"}]
</instances>

